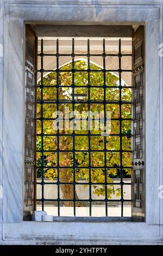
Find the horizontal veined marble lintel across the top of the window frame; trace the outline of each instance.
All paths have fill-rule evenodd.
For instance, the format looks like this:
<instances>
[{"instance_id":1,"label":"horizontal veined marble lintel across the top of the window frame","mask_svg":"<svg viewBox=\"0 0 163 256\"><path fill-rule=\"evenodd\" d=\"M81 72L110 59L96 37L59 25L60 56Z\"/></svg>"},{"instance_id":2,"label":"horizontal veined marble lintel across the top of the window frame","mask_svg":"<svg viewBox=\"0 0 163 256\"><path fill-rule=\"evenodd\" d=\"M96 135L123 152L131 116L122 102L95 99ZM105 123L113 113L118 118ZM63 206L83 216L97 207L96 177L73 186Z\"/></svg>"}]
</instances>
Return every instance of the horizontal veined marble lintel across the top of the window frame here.
<instances>
[{"instance_id":1,"label":"horizontal veined marble lintel across the top of the window frame","mask_svg":"<svg viewBox=\"0 0 163 256\"><path fill-rule=\"evenodd\" d=\"M25 1L24 1L25 2ZM6 11L7 15L14 16L15 19L23 19L25 21L39 21L42 18L40 17L40 13L43 13L43 21L54 21L58 23L67 23L70 21L71 23L75 22L74 24L91 24L91 22L97 22L100 24L101 22L105 22L108 24L111 22L118 23L118 22L144 22L148 20L157 20L159 15L159 8L148 8L148 11L145 11L144 8L139 8L139 15L135 16L135 8L137 5L134 5L133 8L129 8L128 5L121 5L119 4L118 7L121 8L121 12L119 12L119 8L114 8L114 5L109 5L104 7L99 3L97 5L85 5L82 3L81 5L74 4L70 7L70 3L66 2L64 6L58 4L57 2L51 3L49 5L45 5L45 3L39 4L39 12L36 10L37 4L36 2L32 2L33 4L24 5L23 9L20 5L15 6L14 4L11 5ZM23 3L22 3L23 6ZM68 8L69 7L69 8ZM128 8L127 8L128 7ZM42 15L41 15L42 16ZM125 17L125 18L124 18ZM134 19L135 17L135 19ZM121 23L122 25L122 23Z\"/></svg>"}]
</instances>

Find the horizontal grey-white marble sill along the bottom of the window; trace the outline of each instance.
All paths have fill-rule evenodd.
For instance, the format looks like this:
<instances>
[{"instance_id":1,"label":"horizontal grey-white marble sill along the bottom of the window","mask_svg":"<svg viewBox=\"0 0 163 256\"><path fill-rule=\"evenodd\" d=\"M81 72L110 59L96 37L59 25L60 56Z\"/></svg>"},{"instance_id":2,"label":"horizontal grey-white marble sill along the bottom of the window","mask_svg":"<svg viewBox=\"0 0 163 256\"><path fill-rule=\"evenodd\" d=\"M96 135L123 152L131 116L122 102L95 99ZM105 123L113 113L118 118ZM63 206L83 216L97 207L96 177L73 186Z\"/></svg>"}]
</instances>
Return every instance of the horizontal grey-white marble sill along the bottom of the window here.
<instances>
[{"instance_id":1,"label":"horizontal grey-white marble sill along the bottom of the window","mask_svg":"<svg viewBox=\"0 0 163 256\"><path fill-rule=\"evenodd\" d=\"M4 237L7 237L8 240L4 240L3 243L14 243L16 240L17 244L24 242L30 244L30 241L33 240L40 244L49 243L51 245L123 245L127 243L131 245L134 243L162 245L158 225L138 222L32 222L32 224L21 222L4 224L4 230Z\"/></svg>"}]
</instances>

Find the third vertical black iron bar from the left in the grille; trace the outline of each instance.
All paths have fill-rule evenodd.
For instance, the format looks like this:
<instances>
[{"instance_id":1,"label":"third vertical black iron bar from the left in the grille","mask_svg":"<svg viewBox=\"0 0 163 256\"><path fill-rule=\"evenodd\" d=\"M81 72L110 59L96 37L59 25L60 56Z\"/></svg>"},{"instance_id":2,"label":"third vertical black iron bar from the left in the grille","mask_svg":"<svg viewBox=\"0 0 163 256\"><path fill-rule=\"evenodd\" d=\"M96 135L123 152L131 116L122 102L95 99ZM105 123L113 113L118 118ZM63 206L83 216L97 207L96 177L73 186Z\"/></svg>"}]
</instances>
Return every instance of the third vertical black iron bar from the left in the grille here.
<instances>
[{"instance_id":1,"label":"third vertical black iron bar from the left in the grille","mask_svg":"<svg viewBox=\"0 0 163 256\"><path fill-rule=\"evenodd\" d=\"M73 133L72 133L72 139L73 139L73 215L76 216L76 155L75 155L75 126L74 126L74 111L75 111L75 105L74 105L74 38L72 39L72 111L73 111Z\"/></svg>"}]
</instances>

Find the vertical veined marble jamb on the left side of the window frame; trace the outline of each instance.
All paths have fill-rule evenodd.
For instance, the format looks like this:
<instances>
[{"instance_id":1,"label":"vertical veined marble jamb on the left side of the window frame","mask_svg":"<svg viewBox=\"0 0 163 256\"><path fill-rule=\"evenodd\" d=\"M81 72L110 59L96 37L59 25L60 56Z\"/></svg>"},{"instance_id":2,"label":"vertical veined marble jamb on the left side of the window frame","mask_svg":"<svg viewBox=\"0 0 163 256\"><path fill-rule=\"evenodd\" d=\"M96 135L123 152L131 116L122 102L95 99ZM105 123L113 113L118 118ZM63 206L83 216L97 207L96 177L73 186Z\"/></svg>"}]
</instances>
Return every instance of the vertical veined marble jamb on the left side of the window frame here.
<instances>
[{"instance_id":1,"label":"vertical veined marble jamb on the left side of the window frame","mask_svg":"<svg viewBox=\"0 0 163 256\"><path fill-rule=\"evenodd\" d=\"M23 52L19 31L23 21L8 23L8 36L4 51L8 53L4 65L4 115L3 115L3 168L4 215L3 220L19 221L22 218L23 148L24 148L24 82ZM17 35L17 36L14 36ZM16 209L19 209L18 211Z\"/></svg>"}]
</instances>

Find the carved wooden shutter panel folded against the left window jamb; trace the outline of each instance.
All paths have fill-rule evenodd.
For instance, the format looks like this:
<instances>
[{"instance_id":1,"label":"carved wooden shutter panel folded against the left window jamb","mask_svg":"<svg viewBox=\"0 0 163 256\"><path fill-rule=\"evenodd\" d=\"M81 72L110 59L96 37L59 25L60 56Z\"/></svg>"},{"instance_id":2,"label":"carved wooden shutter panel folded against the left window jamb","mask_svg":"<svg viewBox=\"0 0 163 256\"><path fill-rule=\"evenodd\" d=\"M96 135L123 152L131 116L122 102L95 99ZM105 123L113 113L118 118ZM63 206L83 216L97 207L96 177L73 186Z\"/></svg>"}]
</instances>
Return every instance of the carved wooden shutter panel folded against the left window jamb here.
<instances>
[{"instance_id":1,"label":"carved wooden shutter panel folded against the left window jamb","mask_svg":"<svg viewBox=\"0 0 163 256\"><path fill-rule=\"evenodd\" d=\"M26 26L26 121L24 166L24 220L35 210L35 33Z\"/></svg>"}]
</instances>

